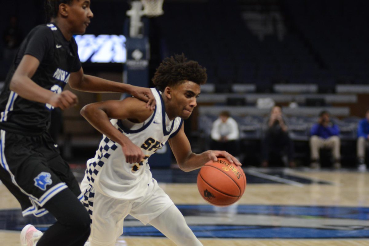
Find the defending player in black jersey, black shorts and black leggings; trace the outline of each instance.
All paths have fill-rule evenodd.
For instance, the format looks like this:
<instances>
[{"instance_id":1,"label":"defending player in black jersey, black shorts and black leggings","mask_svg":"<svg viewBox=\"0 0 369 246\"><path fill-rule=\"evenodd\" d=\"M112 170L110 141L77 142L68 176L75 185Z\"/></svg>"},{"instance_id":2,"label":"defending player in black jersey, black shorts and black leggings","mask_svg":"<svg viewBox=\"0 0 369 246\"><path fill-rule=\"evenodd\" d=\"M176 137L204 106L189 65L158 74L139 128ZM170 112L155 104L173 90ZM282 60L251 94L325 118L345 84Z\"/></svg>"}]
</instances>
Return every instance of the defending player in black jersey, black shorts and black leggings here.
<instances>
[{"instance_id":1,"label":"defending player in black jersey, black shorts and black leggings","mask_svg":"<svg viewBox=\"0 0 369 246\"><path fill-rule=\"evenodd\" d=\"M130 93L155 107L150 89L83 74L72 35L83 34L93 13L90 0L46 0L51 22L24 39L0 95L0 180L21 204L23 215L50 212L57 222L42 235L32 225L21 232L23 246L82 246L90 234L83 195L57 145L47 133L51 110L77 103L77 90ZM127 145L125 155L141 159Z\"/></svg>"}]
</instances>

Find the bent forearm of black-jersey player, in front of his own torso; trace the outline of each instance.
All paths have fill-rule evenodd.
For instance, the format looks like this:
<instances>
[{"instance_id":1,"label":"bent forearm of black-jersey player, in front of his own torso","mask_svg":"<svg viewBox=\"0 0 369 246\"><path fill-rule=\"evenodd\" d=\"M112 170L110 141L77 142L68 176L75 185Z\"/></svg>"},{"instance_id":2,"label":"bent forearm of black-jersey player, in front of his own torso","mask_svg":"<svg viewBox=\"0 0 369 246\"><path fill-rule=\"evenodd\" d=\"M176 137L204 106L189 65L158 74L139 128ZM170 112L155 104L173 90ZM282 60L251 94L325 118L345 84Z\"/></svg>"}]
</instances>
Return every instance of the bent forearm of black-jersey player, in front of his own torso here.
<instances>
[{"instance_id":1,"label":"bent forearm of black-jersey player, in front of his own torso","mask_svg":"<svg viewBox=\"0 0 369 246\"><path fill-rule=\"evenodd\" d=\"M53 95L52 91L42 88L25 75L14 75L9 89L20 97L39 103L49 103Z\"/></svg>"}]
</instances>

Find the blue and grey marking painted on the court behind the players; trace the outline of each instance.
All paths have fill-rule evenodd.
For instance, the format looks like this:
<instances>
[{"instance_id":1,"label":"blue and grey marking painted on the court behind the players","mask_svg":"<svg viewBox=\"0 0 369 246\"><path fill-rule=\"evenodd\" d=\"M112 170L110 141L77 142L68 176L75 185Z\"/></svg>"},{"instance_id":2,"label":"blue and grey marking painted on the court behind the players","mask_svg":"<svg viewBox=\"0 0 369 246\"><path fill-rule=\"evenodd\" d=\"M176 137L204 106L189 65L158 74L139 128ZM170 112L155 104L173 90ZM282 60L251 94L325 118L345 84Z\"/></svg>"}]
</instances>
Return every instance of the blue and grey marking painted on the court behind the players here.
<instances>
[{"instance_id":1,"label":"blue and grey marking painted on the court behind the players","mask_svg":"<svg viewBox=\"0 0 369 246\"><path fill-rule=\"evenodd\" d=\"M224 220L227 221L224 224L219 220L213 223L212 220L227 216L227 208L221 208L224 211L219 211L211 205L177 207L185 217L198 216L198 220L192 219L193 222L189 226L199 238L369 238L369 223L366 223L369 219L369 207L238 205L232 207L235 209L232 215L235 220ZM270 226L260 224L258 215L264 219L273 216L270 218ZM279 218L278 224L275 216ZM298 223L291 224L291 218ZM237 223L233 223L236 220ZM123 236L163 237L162 233L152 226L130 226L132 221L135 219L127 216ZM242 224L242 221L245 221L245 224ZM23 226L34 224L38 225L37 229L40 231L45 231L54 222L55 218L50 214L42 217L22 217L20 209L0 210L0 230L21 231Z\"/></svg>"}]
</instances>

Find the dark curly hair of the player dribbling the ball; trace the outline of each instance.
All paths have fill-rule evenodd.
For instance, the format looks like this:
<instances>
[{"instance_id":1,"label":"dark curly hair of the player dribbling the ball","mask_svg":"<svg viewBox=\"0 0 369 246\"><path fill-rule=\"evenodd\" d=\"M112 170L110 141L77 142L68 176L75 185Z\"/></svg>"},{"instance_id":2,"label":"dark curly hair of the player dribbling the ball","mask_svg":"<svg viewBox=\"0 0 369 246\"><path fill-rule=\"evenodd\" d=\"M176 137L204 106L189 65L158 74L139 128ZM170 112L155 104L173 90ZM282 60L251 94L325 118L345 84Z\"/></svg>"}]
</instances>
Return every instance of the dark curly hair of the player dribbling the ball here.
<instances>
[{"instance_id":1,"label":"dark curly hair of the player dribbling the ball","mask_svg":"<svg viewBox=\"0 0 369 246\"><path fill-rule=\"evenodd\" d=\"M152 82L160 91L167 86L182 84L186 80L196 84L205 84L207 79L206 68L186 56L174 55L165 58L156 69Z\"/></svg>"}]
</instances>

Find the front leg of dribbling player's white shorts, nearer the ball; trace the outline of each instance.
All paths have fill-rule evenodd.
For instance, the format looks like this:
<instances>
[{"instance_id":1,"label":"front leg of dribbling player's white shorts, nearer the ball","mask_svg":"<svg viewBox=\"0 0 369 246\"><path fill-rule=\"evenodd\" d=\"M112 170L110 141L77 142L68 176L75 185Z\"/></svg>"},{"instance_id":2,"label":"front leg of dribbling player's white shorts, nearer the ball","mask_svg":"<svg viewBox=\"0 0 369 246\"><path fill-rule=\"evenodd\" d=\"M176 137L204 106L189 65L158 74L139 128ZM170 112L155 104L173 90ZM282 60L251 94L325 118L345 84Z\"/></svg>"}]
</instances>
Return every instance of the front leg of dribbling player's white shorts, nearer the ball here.
<instances>
[{"instance_id":1,"label":"front leg of dribbling player's white shorts, nearer the ball","mask_svg":"<svg viewBox=\"0 0 369 246\"><path fill-rule=\"evenodd\" d=\"M159 187L156 180L153 179L149 183L146 196L142 200L132 204L130 215L146 225L173 204L170 197Z\"/></svg>"}]
</instances>

